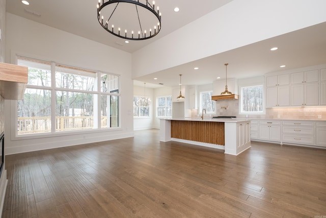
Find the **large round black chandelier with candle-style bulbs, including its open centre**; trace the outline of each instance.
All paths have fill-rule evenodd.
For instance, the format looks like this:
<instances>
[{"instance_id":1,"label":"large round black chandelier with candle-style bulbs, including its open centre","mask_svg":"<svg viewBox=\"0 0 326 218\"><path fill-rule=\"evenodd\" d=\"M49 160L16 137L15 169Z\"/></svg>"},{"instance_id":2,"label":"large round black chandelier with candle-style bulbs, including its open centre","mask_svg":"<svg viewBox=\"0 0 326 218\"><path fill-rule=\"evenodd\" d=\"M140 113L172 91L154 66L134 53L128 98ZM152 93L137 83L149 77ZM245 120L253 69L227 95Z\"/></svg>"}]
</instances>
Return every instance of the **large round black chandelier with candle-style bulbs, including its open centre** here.
<instances>
[{"instance_id":1,"label":"large round black chandelier with candle-style bulbs, including its open centre","mask_svg":"<svg viewBox=\"0 0 326 218\"><path fill-rule=\"evenodd\" d=\"M98 0L97 19L107 32L127 40L144 40L158 34L161 13L148 0Z\"/></svg>"}]
</instances>

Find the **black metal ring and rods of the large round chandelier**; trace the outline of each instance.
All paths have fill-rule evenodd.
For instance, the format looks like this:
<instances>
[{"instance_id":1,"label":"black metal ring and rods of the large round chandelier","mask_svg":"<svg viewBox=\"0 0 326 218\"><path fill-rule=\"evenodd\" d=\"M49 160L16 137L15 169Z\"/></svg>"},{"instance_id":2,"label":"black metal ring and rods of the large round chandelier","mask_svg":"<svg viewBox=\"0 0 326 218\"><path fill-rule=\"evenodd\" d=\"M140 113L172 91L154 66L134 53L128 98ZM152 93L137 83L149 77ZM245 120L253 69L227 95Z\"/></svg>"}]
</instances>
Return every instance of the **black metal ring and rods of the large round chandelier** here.
<instances>
[{"instance_id":1,"label":"black metal ring and rods of the large round chandelier","mask_svg":"<svg viewBox=\"0 0 326 218\"><path fill-rule=\"evenodd\" d=\"M148 3L148 1L146 1L146 4L143 4L143 3L139 2L139 0L108 0L107 2L104 2L104 1L105 1L105 0L102 0L102 1L101 1L102 5L100 4L100 2L99 2L98 5L97 5L97 19L98 19L100 25L101 25L101 26L104 28L104 30L106 30L107 32L109 32L109 33L111 33L111 34L113 34L113 35L115 35L115 36L118 36L118 37L120 37L120 38L123 38L123 39L128 39L128 40L144 40L144 39L149 39L149 38L152 38L152 37L156 36L156 35L158 34L158 32L160 31L160 29L161 29L161 16L159 15L159 11L158 11L158 10L157 10L157 12L155 11L155 6L154 6L154 5L150 5L150 4ZM156 29L154 29L154 33L153 33L153 34L150 32L149 36L148 36L148 35L146 36L146 34L145 34L145 37L143 36L143 31L142 31L142 37L140 37L140 34L139 34L139 37L135 37L135 38L134 38L134 37L133 37L133 34L132 34L131 37L128 37L126 33L125 33L125 35L123 36L123 35L120 35L120 31L119 31L118 34L117 34L117 33L114 32L114 29L113 29L113 28L112 28L112 29L109 29L109 28L107 27L107 22L108 22L108 20L110 20L110 18L111 18L111 16L112 16L112 14L113 14L114 11L112 12L110 18L107 19L107 21L106 21L105 24L103 24L103 19L101 19L100 12L101 12L101 10L102 10L105 6L107 6L107 5L117 3L117 6L118 6L118 4L121 3L121 2L123 2L123 3L134 4L134 5L136 5L136 6L137 6L137 5L138 5L138 6L141 6L141 7L145 8L145 9L149 10L152 14L154 14L155 17L156 17L157 20L158 20L158 23L159 23L159 25L157 25L157 31L156 31ZM116 7L117 7L117 6L116 6ZM136 8L137 8L137 7L136 7ZM115 8L115 9L116 9L116 8ZM137 10L137 13L138 13L138 10ZM139 18L139 15L138 15L138 18ZM140 22L140 19L139 19L139 22Z\"/></svg>"}]
</instances>

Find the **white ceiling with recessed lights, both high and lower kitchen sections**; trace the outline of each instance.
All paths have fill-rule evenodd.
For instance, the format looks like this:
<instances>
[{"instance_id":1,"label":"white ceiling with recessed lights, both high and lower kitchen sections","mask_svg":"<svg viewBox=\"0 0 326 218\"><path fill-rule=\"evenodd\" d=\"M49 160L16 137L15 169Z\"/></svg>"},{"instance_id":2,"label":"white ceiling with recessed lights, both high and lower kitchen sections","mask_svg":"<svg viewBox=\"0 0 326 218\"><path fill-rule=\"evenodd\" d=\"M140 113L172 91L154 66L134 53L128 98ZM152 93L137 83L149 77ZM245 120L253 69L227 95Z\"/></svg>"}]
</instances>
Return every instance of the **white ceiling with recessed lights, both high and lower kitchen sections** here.
<instances>
[{"instance_id":1,"label":"white ceiling with recessed lights, both high and lower kitchen sections","mask_svg":"<svg viewBox=\"0 0 326 218\"><path fill-rule=\"evenodd\" d=\"M162 13L161 31L151 39L130 41L128 44L122 38L106 32L99 25L97 0L29 0L29 6L23 5L20 0L7 0L6 11L132 53L231 1L204 0L201 4L194 5L192 3L197 2L192 0L155 0L155 5L159 6L159 11ZM173 11L175 7L180 8L178 13ZM40 16L26 13L25 9ZM127 19L128 16L125 18ZM274 46L279 49L271 52L270 48ZM134 84L143 86L146 82L146 87L152 88L160 87L158 83L177 86L180 80L179 74L183 75L183 85L209 84L216 80L216 77L225 79L224 63L229 63L228 78L254 77L264 75L266 72L324 64L326 63L326 22L154 72L136 78L140 82L135 81ZM279 66L283 64L286 67L280 68ZM195 66L199 69L194 70ZM154 78L158 79L154 80Z\"/></svg>"}]
</instances>

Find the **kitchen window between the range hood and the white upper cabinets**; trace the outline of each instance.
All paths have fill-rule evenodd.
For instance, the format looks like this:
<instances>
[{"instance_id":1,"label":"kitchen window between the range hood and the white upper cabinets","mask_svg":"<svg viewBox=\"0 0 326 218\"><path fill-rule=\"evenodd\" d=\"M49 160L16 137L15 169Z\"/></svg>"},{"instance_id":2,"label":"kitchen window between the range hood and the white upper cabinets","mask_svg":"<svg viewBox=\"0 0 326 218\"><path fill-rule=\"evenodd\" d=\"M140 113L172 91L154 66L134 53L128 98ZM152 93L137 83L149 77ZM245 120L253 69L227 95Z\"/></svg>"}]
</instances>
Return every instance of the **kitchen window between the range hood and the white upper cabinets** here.
<instances>
[{"instance_id":1,"label":"kitchen window between the range hood and the white upper cabinets","mask_svg":"<svg viewBox=\"0 0 326 218\"><path fill-rule=\"evenodd\" d=\"M263 114L263 85L241 87L241 114Z\"/></svg>"}]
</instances>

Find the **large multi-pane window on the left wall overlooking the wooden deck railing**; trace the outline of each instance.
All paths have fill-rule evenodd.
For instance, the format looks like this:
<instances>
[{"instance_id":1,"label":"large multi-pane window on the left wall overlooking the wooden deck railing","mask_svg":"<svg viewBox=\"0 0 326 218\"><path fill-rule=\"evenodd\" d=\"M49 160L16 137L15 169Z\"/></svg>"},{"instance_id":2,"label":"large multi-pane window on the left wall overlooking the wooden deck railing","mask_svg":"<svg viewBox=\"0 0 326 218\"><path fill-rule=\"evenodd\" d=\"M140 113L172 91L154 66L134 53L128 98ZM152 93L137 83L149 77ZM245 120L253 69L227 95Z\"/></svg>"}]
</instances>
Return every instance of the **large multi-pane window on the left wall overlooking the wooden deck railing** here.
<instances>
[{"instance_id":1,"label":"large multi-pane window on the left wall overlooking the wooden deck railing","mask_svg":"<svg viewBox=\"0 0 326 218\"><path fill-rule=\"evenodd\" d=\"M24 57L17 64L29 68L18 134L119 127L117 75Z\"/></svg>"}]
</instances>

